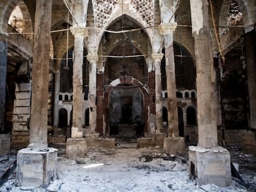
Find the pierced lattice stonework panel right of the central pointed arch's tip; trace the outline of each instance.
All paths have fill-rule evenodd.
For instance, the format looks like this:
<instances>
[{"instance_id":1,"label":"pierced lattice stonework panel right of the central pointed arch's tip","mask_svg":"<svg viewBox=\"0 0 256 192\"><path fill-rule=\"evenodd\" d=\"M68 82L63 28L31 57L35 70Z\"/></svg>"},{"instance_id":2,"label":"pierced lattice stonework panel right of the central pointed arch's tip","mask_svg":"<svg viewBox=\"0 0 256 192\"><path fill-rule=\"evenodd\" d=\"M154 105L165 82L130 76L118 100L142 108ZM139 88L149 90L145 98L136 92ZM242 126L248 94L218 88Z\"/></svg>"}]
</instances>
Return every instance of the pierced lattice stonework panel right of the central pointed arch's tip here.
<instances>
[{"instance_id":1,"label":"pierced lattice stonework panel right of the central pointed arch's tip","mask_svg":"<svg viewBox=\"0 0 256 192\"><path fill-rule=\"evenodd\" d=\"M148 25L153 25L153 0L131 0L131 4L134 6L134 9L137 10L140 17L148 23Z\"/></svg>"}]
</instances>

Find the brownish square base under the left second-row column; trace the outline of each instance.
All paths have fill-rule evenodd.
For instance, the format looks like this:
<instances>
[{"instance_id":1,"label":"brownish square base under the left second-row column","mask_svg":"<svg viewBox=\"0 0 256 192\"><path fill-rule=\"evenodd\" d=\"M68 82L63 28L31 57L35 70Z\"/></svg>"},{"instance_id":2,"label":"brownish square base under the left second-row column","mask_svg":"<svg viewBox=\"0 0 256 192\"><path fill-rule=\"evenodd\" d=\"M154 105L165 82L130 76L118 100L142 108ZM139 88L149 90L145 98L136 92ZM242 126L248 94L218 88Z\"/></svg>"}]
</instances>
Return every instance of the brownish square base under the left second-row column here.
<instances>
[{"instance_id":1,"label":"brownish square base under the left second-row column","mask_svg":"<svg viewBox=\"0 0 256 192\"><path fill-rule=\"evenodd\" d=\"M68 138L66 143L66 155L69 159L85 157L87 140L85 138Z\"/></svg>"}]
</instances>

